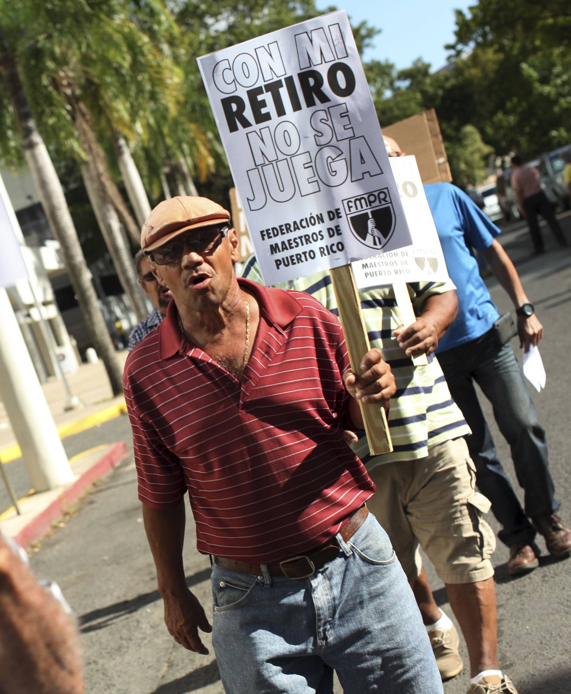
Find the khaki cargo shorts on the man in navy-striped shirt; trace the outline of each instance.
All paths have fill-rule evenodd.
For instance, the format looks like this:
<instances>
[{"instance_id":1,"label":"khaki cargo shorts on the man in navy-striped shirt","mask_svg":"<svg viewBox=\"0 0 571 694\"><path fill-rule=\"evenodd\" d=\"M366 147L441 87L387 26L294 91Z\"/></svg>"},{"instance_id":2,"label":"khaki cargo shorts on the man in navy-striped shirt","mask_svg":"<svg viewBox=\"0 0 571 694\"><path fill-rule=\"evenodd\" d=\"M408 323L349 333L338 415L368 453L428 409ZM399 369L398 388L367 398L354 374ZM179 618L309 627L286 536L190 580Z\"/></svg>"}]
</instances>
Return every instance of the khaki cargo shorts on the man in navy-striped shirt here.
<instances>
[{"instance_id":1,"label":"khaki cargo shorts on the man in navy-striped shirt","mask_svg":"<svg viewBox=\"0 0 571 694\"><path fill-rule=\"evenodd\" d=\"M428 449L418 460L377 465L367 501L384 527L412 582L423 566L420 547L445 583L475 583L493 576L495 536L482 514L490 502L475 490L476 471L464 439Z\"/></svg>"}]
</instances>

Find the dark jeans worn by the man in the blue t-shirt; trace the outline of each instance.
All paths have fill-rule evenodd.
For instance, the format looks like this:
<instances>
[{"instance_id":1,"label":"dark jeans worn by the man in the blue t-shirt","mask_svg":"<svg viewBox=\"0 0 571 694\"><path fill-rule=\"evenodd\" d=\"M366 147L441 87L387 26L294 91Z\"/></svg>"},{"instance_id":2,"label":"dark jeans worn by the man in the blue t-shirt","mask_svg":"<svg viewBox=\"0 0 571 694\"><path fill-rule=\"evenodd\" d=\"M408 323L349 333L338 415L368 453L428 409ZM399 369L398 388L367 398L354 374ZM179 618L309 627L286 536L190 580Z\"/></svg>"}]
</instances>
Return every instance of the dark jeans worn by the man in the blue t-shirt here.
<instances>
[{"instance_id":1,"label":"dark jeans worn by the man in the blue t-shirt","mask_svg":"<svg viewBox=\"0 0 571 694\"><path fill-rule=\"evenodd\" d=\"M438 353L438 362L450 394L472 430L466 442L476 466L476 482L503 525L500 540L508 546L531 542L536 532L528 518L554 513L559 502L554 498L547 464L545 429L538 422L511 344L500 346L494 331L489 330L475 340ZM525 513L497 457L474 381L492 403L495 421L511 448L515 474L525 491Z\"/></svg>"}]
</instances>

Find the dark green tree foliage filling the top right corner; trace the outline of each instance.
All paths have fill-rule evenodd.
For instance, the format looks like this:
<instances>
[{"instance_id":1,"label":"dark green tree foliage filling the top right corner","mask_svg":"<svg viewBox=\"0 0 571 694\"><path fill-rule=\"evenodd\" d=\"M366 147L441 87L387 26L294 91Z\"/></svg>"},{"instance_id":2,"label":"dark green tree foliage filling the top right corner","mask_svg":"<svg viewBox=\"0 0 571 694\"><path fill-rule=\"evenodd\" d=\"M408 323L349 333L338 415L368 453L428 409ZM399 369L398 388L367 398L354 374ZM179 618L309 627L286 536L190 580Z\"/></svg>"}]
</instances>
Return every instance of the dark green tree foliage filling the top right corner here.
<instances>
[{"instance_id":1,"label":"dark green tree foliage filling the top right corner","mask_svg":"<svg viewBox=\"0 0 571 694\"><path fill-rule=\"evenodd\" d=\"M571 8L563 0L480 0L456 15L454 81L499 154L571 141ZM463 115L466 119L466 115Z\"/></svg>"}]
</instances>

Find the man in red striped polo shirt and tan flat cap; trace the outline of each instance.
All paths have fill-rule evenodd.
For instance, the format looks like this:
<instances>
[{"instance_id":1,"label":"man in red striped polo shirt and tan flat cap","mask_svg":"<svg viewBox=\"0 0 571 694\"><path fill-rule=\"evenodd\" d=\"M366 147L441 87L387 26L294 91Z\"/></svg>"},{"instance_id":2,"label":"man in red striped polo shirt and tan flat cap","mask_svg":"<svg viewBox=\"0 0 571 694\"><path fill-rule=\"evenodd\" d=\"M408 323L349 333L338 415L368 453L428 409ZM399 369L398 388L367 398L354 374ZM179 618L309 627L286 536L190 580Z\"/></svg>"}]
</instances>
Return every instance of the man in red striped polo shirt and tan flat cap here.
<instances>
[{"instance_id":1,"label":"man in red striped polo shirt and tan flat cap","mask_svg":"<svg viewBox=\"0 0 571 694\"><path fill-rule=\"evenodd\" d=\"M350 372L336 317L312 296L237 280L226 210L178 197L141 246L173 301L130 353L123 387L165 621L207 653L185 583L185 493L213 561L212 641L229 694L441 693L407 579L368 514L375 491L343 430L395 393L379 350Z\"/></svg>"}]
</instances>

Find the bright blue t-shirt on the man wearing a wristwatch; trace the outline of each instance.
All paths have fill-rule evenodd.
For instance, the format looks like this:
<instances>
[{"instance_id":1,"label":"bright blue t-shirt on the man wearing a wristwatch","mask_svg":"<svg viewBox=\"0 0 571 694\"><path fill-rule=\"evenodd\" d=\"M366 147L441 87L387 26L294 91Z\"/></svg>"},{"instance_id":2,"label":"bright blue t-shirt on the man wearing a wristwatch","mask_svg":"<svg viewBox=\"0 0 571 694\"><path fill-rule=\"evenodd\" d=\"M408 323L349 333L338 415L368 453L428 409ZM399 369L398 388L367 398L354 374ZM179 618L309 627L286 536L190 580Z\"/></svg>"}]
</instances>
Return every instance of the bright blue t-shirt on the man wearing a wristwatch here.
<instances>
[{"instance_id":1,"label":"bright blue t-shirt on the man wearing a wristwatch","mask_svg":"<svg viewBox=\"0 0 571 694\"><path fill-rule=\"evenodd\" d=\"M432 183L424 188L459 304L458 317L440 340L438 353L484 335L500 317L473 251L485 251L500 229L455 185Z\"/></svg>"}]
</instances>

